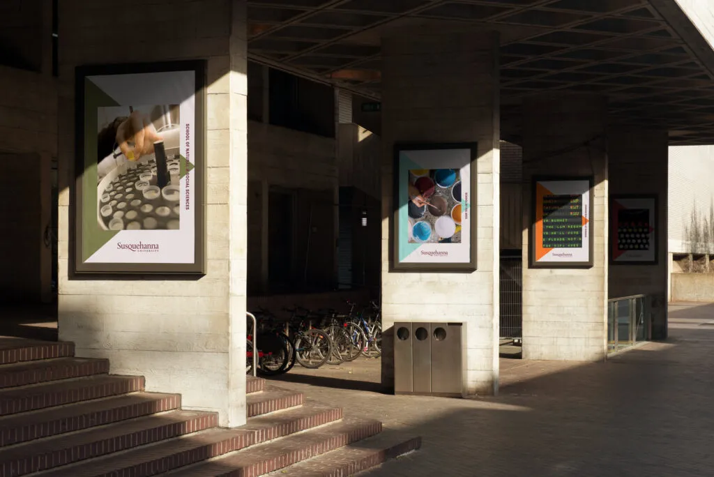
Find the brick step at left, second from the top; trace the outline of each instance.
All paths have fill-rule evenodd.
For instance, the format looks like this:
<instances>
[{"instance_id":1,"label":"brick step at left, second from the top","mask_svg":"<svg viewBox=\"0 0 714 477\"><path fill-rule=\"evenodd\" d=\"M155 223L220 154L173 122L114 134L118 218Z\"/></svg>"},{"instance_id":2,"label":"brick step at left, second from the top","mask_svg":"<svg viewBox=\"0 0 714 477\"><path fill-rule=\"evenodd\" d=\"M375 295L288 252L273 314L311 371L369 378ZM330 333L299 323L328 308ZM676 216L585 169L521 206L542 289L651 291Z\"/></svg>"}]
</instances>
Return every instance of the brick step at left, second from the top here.
<instances>
[{"instance_id":1,"label":"brick step at left, second from the top","mask_svg":"<svg viewBox=\"0 0 714 477\"><path fill-rule=\"evenodd\" d=\"M0 388L109 373L106 359L54 358L0 366Z\"/></svg>"}]
</instances>

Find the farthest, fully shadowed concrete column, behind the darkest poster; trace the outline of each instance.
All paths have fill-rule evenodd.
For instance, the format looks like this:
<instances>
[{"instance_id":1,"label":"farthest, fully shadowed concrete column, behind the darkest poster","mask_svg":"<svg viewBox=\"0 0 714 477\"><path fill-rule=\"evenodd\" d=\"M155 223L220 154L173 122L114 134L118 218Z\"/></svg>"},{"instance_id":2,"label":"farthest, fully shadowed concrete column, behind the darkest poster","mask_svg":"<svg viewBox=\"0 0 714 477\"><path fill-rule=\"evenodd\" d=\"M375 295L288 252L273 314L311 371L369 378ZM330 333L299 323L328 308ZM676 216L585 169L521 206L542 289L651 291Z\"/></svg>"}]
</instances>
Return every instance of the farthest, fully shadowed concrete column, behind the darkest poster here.
<instances>
[{"instance_id":1,"label":"farthest, fully shadowed concrete column, behind the darkest poster","mask_svg":"<svg viewBox=\"0 0 714 477\"><path fill-rule=\"evenodd\" d=\"M646 194L657 196L655 265L610 265L610 298L651 296L652 338L667 337L668 301L668 132L666 130L625 128L608 129L608 184L610 195Z\"/></svg>"}]
</instances>

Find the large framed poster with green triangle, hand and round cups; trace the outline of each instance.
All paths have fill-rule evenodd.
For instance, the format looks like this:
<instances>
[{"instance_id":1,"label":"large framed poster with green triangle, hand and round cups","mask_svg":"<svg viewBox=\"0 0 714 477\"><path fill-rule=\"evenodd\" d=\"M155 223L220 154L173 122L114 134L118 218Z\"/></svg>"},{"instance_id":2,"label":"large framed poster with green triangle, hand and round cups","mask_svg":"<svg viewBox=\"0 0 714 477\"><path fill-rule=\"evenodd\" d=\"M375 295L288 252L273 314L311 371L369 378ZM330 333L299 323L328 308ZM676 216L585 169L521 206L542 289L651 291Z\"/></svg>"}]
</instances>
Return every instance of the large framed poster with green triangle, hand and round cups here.
<instances>
[{"instance_id":1,"label":"large framed poster with green triangle, hand and round cups","mask_svg":"<svg viewBox=\"0 0 714 477\"><path fill-rule=\"evenodd\" d=\"M205 79L205 61L76 69L76 273L205 273Z\"/></svg>"}]
</instances>

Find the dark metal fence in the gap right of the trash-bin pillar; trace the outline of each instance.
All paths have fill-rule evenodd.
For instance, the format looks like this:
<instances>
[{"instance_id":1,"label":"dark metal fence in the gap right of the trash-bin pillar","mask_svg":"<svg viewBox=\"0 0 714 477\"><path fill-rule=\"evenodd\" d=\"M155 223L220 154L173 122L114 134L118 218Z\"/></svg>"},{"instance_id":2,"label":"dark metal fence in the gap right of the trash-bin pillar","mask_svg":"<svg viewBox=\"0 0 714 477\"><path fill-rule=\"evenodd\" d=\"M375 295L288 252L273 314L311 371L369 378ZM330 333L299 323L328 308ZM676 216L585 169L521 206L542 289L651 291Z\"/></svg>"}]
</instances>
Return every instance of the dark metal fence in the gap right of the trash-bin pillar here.
<instances>
[{"instance_id":1,"label":"dark metal fence in the gap right of the trash-bin pillar","mask_svg":"<svg viewBox=\"0 0 714 477\"><path fill-rule=\"evenodd\" d=\"M501 252L501 338L523 338L523 258Z\"/></svg>"}]
</instances>

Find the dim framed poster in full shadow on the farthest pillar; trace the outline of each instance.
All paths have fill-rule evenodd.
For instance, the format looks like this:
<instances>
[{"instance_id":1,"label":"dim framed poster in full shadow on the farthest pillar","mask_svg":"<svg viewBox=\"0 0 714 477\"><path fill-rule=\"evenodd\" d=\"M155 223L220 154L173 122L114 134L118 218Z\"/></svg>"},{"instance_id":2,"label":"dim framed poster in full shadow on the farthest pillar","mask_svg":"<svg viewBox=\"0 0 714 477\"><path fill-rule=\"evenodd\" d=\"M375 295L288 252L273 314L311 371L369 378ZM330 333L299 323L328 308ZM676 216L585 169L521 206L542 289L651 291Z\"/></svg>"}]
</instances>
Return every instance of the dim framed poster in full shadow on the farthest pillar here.
<instances>
[{"instance_id":1,"label":"dim framed poster in full shadow on the farthest pillar","mask_svg":"<svg viewBox=\"0 0 714 477\"><path fill-rule=\"evenodd\" d=\"M657 263L657 196L610 197L610 263Z\"/></svg>"}]
</instances>

